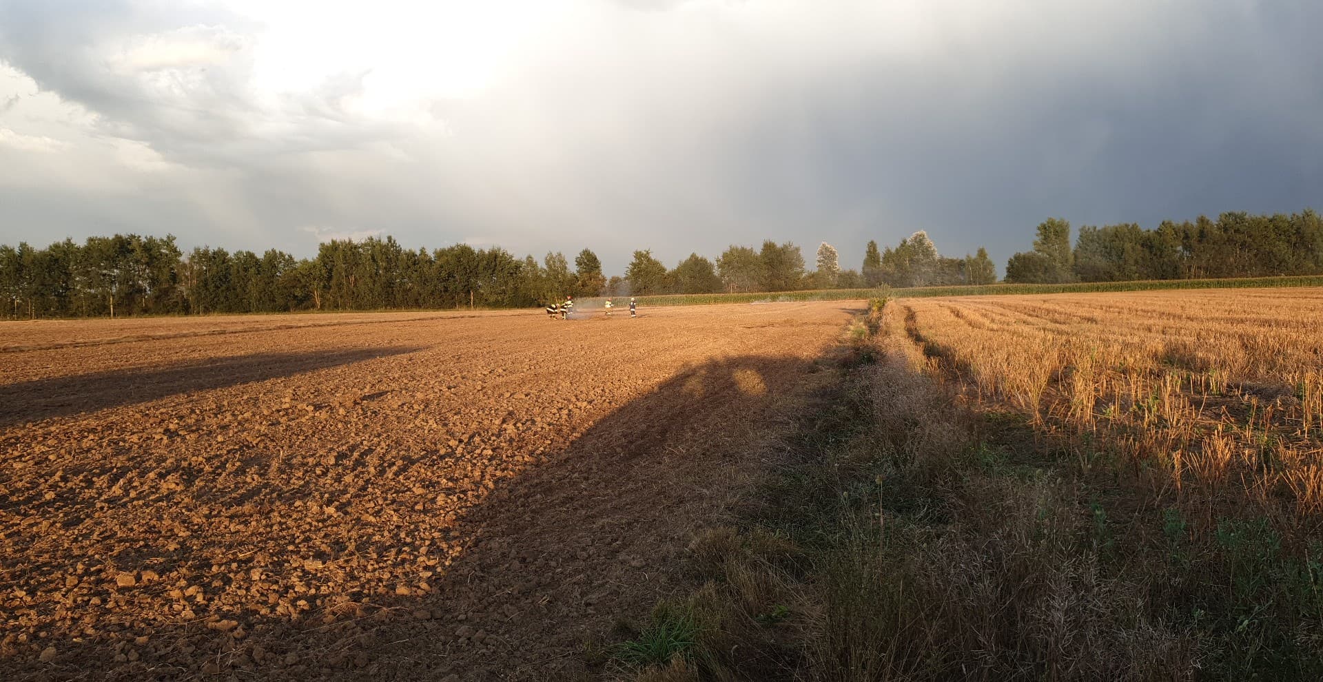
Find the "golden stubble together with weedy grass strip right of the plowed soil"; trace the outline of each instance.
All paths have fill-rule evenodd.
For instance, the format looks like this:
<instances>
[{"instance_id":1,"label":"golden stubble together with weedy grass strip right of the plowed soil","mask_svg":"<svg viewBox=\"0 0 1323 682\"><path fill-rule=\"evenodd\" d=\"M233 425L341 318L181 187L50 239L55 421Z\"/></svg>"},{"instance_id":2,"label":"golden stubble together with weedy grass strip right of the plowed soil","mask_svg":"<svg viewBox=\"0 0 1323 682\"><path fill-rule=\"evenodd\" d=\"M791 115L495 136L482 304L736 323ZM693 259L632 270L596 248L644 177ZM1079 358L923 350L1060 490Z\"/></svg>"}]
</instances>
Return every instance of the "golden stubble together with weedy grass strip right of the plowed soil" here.
<instances>
[{"instance_id":1,"label":"golden stubble together with weedy grass strip right of the plowed soil","mask_svg":"<svg viewBox=\"0 0 1323 682\"><path fill-rule=\"evenodd\" d=\"M691 547L712 656L684 673L1319 679L1320 304L1207 291L871 311L754 511ZM792 549L751 552L759 534ZM773 604L790 617L758 621Z\"/></svg>"}]
</instances>

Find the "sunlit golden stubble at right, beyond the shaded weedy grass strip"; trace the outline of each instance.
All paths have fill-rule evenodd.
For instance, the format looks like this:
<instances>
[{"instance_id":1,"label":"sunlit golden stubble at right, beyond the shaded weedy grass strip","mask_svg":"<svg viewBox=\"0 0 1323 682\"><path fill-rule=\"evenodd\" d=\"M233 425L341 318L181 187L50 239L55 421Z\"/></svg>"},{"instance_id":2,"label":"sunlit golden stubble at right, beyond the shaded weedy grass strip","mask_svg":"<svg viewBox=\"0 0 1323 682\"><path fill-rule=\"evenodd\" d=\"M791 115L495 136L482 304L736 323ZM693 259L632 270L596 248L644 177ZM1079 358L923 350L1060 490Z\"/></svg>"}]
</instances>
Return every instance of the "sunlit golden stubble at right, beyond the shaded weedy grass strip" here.
<instances>
[{"instance_id":1,"label":"sunlit golden stubble at right, beyond the shaded weedy grass strip","mask_svg":"<svg viewBox=\"0 0 1323 682\"><path fill-rule=\"evenodd\" d=\"M1318 530L1323 292L1208 291L905 301L910 328L1089 460L1115 455L1155 502L1252 505Z\"/></svg>"}]
</instances>

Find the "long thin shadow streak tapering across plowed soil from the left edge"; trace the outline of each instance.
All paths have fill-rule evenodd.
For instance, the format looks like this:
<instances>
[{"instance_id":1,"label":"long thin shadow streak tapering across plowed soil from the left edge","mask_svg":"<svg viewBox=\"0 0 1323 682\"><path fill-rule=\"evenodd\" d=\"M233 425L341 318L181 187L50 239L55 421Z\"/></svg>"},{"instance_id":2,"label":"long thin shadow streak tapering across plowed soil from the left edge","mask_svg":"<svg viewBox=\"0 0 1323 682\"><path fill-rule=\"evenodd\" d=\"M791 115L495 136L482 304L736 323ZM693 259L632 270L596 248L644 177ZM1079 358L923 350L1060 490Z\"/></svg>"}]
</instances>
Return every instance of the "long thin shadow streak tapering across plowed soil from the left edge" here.
<instances>
[{"instance_id":1,"label":"long thin shadow streak tapering across plowed soil from the left edge","mask_svg":"<svg viewBox=\"0 0 1323 682\"><path fill-rule=\"evenodd\" d=\"M356 348L320 353L261 353L74 374L0 386L0 427L146 403L171 395L290 377L337 365L411 353L417 348Z\"/></svg>"}]
</instances>

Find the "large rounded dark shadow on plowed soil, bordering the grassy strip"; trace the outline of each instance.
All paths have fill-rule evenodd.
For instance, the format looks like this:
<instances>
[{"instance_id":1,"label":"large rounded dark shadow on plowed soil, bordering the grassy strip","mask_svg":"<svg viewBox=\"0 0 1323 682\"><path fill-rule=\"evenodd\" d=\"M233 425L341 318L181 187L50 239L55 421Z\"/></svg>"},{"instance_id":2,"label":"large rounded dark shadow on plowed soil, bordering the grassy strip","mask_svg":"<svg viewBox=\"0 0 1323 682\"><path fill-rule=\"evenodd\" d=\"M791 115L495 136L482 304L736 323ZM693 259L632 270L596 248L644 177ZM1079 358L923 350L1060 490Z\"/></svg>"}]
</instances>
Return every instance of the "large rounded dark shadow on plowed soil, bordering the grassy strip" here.
<instances>
[{"instance_id":1,"label":"large rounded dark shadow on plowed soil, bordering the grassy strip","mask_svg":"<svg viewBox=\"0 0 1323 682\"><path fill-rule=\"evenodd\" d=\"M422 603L435 620L384 633L402 644L365 677L595 679L585 646L675 592L692 531L761 474L759 444L830 371L755 356L693 366L497 484L455 526L464 551Z\"/></svg>"}]
</instances>

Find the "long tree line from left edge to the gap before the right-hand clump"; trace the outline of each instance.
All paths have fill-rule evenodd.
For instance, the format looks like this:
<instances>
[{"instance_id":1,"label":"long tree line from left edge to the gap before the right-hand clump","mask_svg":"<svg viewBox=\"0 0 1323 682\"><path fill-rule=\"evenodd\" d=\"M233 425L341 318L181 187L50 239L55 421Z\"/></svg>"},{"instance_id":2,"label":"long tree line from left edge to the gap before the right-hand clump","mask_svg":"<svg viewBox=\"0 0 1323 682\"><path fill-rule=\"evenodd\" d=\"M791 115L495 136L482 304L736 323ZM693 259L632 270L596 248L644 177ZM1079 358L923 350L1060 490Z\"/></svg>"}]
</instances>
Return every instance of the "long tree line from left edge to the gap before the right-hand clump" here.
<instances>
[{"instance_id":1,"label":"long tree line from left edge to the gap before the right-hand clump","mask_svg":"<svg viewBox=\"0 0 1323 682\"><path fill-rule=\"evenodd\" d=\"M668 268L635 251L623 275L606 278L583 248L523 259L500 247L407 250L392 237L332 239L312 258L209 246L184 252L173 235L115 234L0 246L0 316L11 319L131 315L369 311L388 308L520 308L565 296L777 292L922 284L986 284L992 262L938 255L926 233L885 251L869 242L860 270L841 270L836 248L818 247L807 270L794 243L732 246L716 262L691 254ZM573 266L573 267L572 267Z\"/></svg>"}]
</instances>

